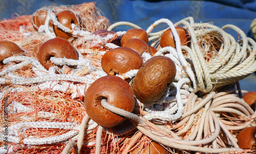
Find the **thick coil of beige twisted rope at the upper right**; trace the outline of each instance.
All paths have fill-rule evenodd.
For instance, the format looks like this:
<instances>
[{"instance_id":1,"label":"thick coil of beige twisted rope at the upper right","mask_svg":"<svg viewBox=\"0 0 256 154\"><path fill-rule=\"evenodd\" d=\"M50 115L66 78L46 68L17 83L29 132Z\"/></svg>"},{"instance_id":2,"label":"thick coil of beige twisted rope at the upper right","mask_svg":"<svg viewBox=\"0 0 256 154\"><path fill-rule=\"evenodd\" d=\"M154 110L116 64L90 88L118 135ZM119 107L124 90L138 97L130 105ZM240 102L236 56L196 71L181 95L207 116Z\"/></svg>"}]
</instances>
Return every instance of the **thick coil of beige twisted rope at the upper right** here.
<instances>
[{"instance_id":1,"label":"thick coil of beige twisted rope at the upper right","mask_svg":"<svg viewBox=\"0 0 256 154\"><path fill-rule=\"evenodd\" d=\"M191 46L182 47L182 49L188 53L186 58L193 61L200 91L208 93L220 86L242 80L256 71L255 41L246 37L245 33L235 25L227 24L219 28L210 23L194 23L193 18L189 17L175 23L175 26L182 24L191 36ZM226 29L236 31L242 43L236 42L236 39L225 32ZM165 30L149 34L150 39L155 40L154 44L159 42ZM207 34L217 34L223 38L218 56L212 57L208 63L202 54L204 48L199 46L200 38ZM252 51L247 57L248 50Z\"/></svg>"}]
</instances>

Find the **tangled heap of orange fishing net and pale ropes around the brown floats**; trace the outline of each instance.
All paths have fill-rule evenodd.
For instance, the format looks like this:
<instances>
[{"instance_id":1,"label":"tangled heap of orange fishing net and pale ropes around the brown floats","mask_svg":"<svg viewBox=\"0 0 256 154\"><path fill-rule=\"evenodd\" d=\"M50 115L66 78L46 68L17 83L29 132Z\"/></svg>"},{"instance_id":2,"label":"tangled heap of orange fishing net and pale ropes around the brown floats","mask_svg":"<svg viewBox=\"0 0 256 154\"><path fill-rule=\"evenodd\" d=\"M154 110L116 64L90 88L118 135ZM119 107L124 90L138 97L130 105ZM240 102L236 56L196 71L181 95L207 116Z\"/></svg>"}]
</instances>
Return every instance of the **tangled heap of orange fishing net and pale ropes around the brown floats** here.
<instances>
[{"instance_id":1,"label":"tangled heap of orange fishing net and pale ropes around the brown floats","mask_svg":"<svg viewBox=\"0 0 256 154\"><path fill-rule=\"evenodd\" d=\"M89 4L83 5L71 8L86 8ZM153 140L170 153L256 152L255 149L240 149L236 139L240 130L256 126L255 111L232 86L223 90L223 86L236 83L256 70L256 43L239 28L194 23L191 17L175 24L168 19L154 22L146 32L152 45L158 48L155 55L169 52L164 56L175 62L175 81L158 101L143 105L137 100L133 113L111 106L102 99L101 105L105 109L127 117L122 125L106 129L88 117L83 97L96 79L106 75L100 67L101 57L109 49L118 47L110 42L124 35L125 31L101 37L92 33L96 28L92 31L73 30L75 39L70 41L77 48L79 59L52 57L50 60L62 68L46 70L33 55L32 47L43 42L42 38L54 37L47 24L52 21L62 30L71 32L57 22L54 11L58 9L49 8L46 25L41 28L44 31L34 32L32 24L25 22L27 20L22 20L26 24L15 29L18 32L14 33L23 37L16 36L12 41L17 42L26 55L3 61L7 67L0 70L0 153L129 153ZM8 21L0 23L2 29ZM158 45L165 30L152 31L161 23L166 23L172 30L176 48ZM139 28L129 22L118 22L108 30L123 24ZM178 25L184 25L188 30L189 46L181 46L175 30ZM224 31L227 28L238 32L239 41ZM6 35L12 33L8 29L5 31ZM28 36L24 35L28 33ZM152 58L147 53L142 57L144 61ZM133 78L136 73L137 70L131 70L119 76Z\"/></svg>"}]
</instances>

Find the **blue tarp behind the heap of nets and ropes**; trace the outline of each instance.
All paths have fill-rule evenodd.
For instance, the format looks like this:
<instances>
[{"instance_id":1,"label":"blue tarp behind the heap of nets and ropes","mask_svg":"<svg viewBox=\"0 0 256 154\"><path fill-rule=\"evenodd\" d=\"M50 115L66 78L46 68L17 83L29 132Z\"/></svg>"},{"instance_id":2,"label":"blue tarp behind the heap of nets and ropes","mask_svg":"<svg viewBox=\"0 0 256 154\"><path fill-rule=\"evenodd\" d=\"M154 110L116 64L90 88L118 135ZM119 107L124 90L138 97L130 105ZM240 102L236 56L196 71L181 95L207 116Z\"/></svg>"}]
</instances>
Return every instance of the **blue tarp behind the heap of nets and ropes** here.
<instances>
[{"instance_id":1,"label":"blue tarp behind the heap of nets and ropes","mask_svg":"<svg viewBox=\"0 0 256 154\"><path fill-rule=\"evenodd\" d=\"M196 22L213 22L218 27L234 24L251 37L250 24L256 18L256 1L254 0L211 0L211 1L132 1L132 0L0 0L0 19L10 18L13 14L33 14L44 6L76 5L84 2L97 2L96 7L111 23L130 21L147 29L154 21L168 18L174 23L188 16ZM164 26L164 25L162 25ZM129 27L118 27L115 31L125 31ZM160 27L160 29L162 29ZM236 32L227 31L235 39ZM255 66L256 67L256 66ZM256 91L256 76L253 73L240 81L244 90Z\"/></svg>"}]
</instances>

